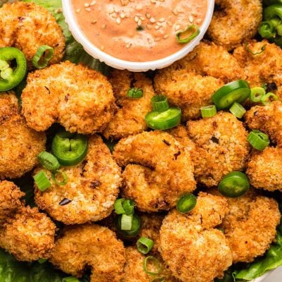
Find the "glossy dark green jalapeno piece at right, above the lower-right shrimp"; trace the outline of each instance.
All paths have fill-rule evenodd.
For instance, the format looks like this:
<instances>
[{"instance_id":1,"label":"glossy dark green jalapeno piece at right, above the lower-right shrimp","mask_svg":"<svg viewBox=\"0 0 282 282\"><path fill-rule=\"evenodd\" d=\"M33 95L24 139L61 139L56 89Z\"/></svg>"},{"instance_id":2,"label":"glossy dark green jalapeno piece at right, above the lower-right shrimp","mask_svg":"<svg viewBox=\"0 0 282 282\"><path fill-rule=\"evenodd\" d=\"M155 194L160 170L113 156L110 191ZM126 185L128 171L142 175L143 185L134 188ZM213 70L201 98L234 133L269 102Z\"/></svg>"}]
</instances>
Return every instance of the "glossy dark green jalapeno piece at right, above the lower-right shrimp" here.
<instances>
[{"instance_id":1,"label":"glossy dark green jalapeno piece at right, above the lower-right shrimp","mask_svg":"<svg viewBox=\"0 0 282 282\"><path fill-rule=\"evenodd\" d=\"M219 192L226 197L240 197L250 188L245 173L233 171L224 176L219 183Z\"/></svg>"}]
</instances>

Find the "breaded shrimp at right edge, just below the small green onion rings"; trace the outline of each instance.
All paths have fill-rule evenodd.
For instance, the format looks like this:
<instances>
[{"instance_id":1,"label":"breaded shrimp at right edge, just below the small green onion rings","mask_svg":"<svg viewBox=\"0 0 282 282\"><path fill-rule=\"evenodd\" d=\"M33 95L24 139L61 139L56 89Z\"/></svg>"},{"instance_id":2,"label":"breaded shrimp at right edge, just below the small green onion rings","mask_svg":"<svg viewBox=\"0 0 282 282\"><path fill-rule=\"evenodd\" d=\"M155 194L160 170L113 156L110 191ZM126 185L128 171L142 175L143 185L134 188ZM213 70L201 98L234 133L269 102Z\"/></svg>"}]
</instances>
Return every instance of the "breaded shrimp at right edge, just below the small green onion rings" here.
<instances>
[{"instance_id":1,"label":"breaded shrimp at right edge, just below the small green onion rings","mask_svg":"<svg viewBox=\"0 0 282 282\"><path fill-rule=\"evenodd\" d=\"M250 129L267 133L272 142L282 147L282 102L253 106L245 114L245 121Z\"/></svg>"}]
</instances>

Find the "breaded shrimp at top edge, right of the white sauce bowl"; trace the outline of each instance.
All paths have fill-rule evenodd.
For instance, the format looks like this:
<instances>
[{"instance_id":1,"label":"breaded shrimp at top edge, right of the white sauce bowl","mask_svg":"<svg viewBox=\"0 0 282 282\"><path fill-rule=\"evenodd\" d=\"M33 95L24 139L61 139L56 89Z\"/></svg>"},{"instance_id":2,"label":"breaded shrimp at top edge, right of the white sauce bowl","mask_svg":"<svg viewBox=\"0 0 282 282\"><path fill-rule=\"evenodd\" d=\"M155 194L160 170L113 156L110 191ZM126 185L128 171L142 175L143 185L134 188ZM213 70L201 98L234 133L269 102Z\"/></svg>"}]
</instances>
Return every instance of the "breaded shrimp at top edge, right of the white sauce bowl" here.
<instances>
[{"instance_id":1,"label":"breaded shrimp at top edge, right of the white sauce bowl","mask_svg":"<svg viewBox=\"0 0 282 282\"><path fill-rule=\"evenodd\" d=\"M262 21L262 1L216 0L215 2L219 9L214 11L207 31L214 43L231 50L255 36ZM238 20L239 15L240 20Z\"/></svg>"}]
</instances>

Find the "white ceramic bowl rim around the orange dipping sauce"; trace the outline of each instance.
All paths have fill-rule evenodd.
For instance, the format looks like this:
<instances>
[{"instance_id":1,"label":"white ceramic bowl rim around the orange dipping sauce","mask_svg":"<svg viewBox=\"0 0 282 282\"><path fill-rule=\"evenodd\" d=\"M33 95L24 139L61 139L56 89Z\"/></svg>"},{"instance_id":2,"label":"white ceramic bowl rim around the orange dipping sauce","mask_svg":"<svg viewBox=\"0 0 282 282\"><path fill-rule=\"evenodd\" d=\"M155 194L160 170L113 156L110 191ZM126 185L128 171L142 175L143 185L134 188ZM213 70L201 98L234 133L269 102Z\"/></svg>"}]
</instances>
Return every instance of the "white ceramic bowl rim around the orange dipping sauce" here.
<instances>
[{"instance_id":1,"label":"white ceramic bowl rim around the orange dipping sauce","mask_svg":"<svg viewBox=\"0 0 282 282\"><path fill-rule=\"evenodd\" d=\"M78 24L75 21L75 11L73 11L71 0L63 0L62 2L63 15L66 18L66 23L68 23L68 28L71 30L73 37L75 37L75 39L82 44L85 51L87 51L87 53L95 59L99 59L113 68L118 68L121 70L127 69L129 71L149 71L155 70L157 68L164 68L171 65L171 63L182 59L200 43L207 31L207 28L209 27L209 23L212 20L212 14L214 13L214 0L208 0L209 6L207 9L207 15L204 19L204 23L200 27L200 35L198 35L190 44L185 45L185 47L177 51L175 54L172 54L164 59L140 63L117 59L94 46L94 44L92 44L90 40L85 37L83 32L80 30L80 27L78 27Z\"/></svg>"}]
</instances>

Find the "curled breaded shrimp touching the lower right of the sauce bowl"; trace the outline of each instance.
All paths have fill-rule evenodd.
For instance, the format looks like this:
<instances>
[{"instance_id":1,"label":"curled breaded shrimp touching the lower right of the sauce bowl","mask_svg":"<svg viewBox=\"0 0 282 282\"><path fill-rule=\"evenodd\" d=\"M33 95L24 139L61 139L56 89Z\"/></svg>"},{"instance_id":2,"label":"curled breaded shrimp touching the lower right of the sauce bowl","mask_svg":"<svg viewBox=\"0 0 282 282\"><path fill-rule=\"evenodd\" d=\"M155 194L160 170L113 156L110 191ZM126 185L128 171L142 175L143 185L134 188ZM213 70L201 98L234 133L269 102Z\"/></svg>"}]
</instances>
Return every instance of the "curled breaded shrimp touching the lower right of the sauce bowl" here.
<instances>
[{"instance_id":1,"label":"curled breaded shrimp touching the lower right of the sauce bowl","mask_svg":"<svg viewBox=\"0 0 282 282\"><path fill-rule=\"evenodd\" d=\"M179 106L183 119L200 117L201 106L212 103L212 94L224 82L243 78L237 60L223 47L202 42L184 59L160 70L154 78L157 93Z\"/></svg>"}]
</instances>

